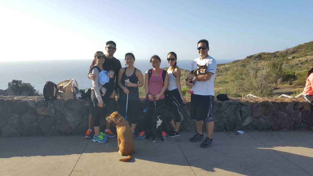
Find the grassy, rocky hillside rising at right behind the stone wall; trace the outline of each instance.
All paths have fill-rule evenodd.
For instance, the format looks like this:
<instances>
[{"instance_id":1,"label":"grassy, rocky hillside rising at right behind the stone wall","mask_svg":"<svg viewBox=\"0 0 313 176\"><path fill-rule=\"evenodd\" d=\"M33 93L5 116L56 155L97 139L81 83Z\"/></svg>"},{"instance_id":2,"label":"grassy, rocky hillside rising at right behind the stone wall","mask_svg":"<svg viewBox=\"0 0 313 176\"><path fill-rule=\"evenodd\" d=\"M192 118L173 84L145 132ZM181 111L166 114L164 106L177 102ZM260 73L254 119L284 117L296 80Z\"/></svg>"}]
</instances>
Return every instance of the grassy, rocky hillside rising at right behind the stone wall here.
<instances>
[{"instance_id":1,"label":"grassy, rocky hillside rising at right behind the stone wall","mask_svg":"<svg viewBox=\"0 0 313 176\"><path fill-rule=\"evenodd\" d=\"M230 82L230 77L234 74L233 71L238 68L246 68L254 58L258 58L258 65L264 69L269 62L281 60L283 62L283 71L285 74L291 75L292 79L285 80L285 82L280 79L279 85L294 85L300 91L304 87L308 70L313 67L313 41L273 53L257 53L247 56L243 60L218 64L214 85L215 91L219 90L222 93L231 92L233 84Z\"/></svg>"}]
</instances>

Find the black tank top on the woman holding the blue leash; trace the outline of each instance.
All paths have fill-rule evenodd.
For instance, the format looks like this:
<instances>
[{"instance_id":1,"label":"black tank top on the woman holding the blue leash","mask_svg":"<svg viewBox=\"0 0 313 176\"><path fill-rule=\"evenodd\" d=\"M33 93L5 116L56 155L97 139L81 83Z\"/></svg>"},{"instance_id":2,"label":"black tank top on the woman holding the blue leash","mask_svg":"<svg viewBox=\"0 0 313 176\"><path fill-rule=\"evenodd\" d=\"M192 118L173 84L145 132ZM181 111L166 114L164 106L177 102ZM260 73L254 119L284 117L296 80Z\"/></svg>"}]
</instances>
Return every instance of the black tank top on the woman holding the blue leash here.
<instances>
[{"instance_id":1,"label":"black tank top on the woman holding the blue leash","mask_svg":"<svg viewBox=\"0 0 313 176\"><path fill-rule=\"evenodd\" d=\"M126 75L126 69L127 67L125 67L123 75L122 75L122 85L125 86L125 80L129 79L129 81L131 83L138 83L138 78L136 76L136 68L134 70L134 73L130 76ZM132 101L132 100L139 100L139 90L138 87L127 87L127 89L129 90L129 94L128 94L128 101ZM126 100L127 99L127 94L121 89L121 96L120 96L121 100Z\"/></svg>"}]
</instances>

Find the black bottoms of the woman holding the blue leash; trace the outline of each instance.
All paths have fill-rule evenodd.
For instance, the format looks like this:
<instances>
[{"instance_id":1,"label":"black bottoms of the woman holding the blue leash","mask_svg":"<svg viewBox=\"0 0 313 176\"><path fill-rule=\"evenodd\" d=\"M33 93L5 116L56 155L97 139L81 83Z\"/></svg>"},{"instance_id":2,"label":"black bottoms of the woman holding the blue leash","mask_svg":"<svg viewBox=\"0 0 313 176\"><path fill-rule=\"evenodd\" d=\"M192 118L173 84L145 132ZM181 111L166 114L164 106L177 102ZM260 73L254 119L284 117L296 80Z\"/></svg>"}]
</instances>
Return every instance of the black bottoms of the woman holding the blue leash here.
<instances>
[{"instance_id":1,"label":"black bottoms of the woman holding the blue leash","mask_svg":"<svg viewBox=\"0 0 313 176\"><path fill-rule=\"evenodd\" d=\"M126 100L120 99L120 112L128 122L136 124L138 121L139 100L128 101L127 104L127 117L126 117Z\"/></svg>"}]
</instances>

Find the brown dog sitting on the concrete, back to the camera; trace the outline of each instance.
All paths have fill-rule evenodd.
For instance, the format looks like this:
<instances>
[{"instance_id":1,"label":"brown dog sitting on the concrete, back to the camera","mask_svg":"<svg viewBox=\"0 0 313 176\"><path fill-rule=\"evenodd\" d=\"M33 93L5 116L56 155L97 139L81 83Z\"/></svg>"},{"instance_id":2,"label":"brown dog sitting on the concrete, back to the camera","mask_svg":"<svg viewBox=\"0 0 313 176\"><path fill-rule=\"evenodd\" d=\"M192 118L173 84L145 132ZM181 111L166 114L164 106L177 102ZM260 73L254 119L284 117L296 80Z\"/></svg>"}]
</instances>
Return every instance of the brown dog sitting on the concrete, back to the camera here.
<instances>
[{"instance_id":1,"label":"brown dog sitting on the concrete, back to the camera","mask_svg":"<svg viewBox=\"0 0 313 176\"><path fill-rule=\"evenodd\" d=\"M127 155L128 158L122 158L120 161L126 162L131 160L131 154L135 153L133 143L133 133L129 123L118 112L113 112L109 117L106 117L108 122L116 124L117 132L117 148L121 155Z\"/></svg>"}]
</instances>

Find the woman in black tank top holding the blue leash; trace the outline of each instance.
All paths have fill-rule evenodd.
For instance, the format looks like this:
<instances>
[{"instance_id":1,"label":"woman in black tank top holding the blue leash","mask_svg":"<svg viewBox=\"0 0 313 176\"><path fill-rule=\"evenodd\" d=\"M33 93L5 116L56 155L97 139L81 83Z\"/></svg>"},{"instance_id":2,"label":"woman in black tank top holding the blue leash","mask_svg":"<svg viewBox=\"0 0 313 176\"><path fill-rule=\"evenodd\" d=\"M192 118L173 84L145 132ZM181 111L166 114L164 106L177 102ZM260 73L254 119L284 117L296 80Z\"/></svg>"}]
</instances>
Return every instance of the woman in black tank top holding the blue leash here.
<instances>
[{"instance_id":1,"label":"woman in black tank top holding the blue leash","mask_svg":"<svg viewBox=\"0 0 313 176\"><path fill-rule=\"evenodd\" d=\"M139 90L143 86L143 75L134 67L135 56L132 53L125 54L127 67L121 68L118 73L117 84L120 86L120 113L128 122L131 122L131 130L135 135L139 111ZM128 99L127 99L128 95ZM127 101L128 100L128 101ZM127 107L126 107L127 106ZM127 108L127 114L126 114Z\"/></svg>"}]
</instances>

